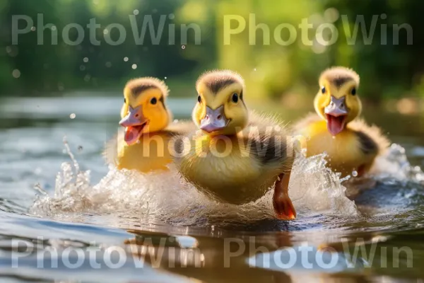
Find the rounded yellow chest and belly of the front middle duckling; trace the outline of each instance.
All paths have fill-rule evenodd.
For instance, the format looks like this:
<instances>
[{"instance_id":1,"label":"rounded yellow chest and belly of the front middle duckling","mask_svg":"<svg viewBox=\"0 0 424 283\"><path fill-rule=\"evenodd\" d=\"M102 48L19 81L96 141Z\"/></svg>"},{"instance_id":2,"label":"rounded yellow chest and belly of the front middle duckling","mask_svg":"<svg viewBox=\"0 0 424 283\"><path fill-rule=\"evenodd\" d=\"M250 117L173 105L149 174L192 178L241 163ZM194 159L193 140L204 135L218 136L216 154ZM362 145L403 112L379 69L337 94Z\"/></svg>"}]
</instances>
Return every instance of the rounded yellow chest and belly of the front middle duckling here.
<instances>
[{"instance_id":1,"label":"rounded yellow chest and belly of the front middle duckling","mask_svg":"<svg viewBox=\"0 0 424 283\"><path fill-rule=\"evenodd\" d=\"M267 171L240 143L236 136L196 137L181 160L180 172L220 200L235 204L256 200L275 181L276 172Z\"/></svg>"}]
</instances>

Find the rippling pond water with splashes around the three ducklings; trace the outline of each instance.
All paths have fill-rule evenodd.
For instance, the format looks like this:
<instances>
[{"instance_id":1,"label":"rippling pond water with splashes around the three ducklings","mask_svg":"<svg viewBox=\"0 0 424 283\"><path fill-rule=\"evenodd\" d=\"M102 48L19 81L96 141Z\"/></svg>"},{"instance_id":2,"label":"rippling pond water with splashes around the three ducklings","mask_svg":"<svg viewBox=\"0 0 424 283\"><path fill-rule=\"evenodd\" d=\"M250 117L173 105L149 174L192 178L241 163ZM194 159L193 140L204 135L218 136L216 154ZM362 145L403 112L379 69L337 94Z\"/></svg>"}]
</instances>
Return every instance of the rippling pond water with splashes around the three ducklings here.
<instances>
[{"instance_id":1,"label":"rippling pond water with splashes around the three ducklings","mask_svg":"<svg viewBox=\"0 0 424 283\"><path fill-rule=\"evenodd\" d=\"M173 171L108 168L102 146L122 100L78 95L1 103L2 282L424 277L424 144L414 124L396 126L404 118L384 117L402 146L377 161L375 178L348 180L346 192L323 156L298 158L290 181L298 219L276 221L271 193L237 207L208 200ZM193 103L170 107L186 117ZM364 249L355 256L355 247Z\"/></svg>"}]
</instances>

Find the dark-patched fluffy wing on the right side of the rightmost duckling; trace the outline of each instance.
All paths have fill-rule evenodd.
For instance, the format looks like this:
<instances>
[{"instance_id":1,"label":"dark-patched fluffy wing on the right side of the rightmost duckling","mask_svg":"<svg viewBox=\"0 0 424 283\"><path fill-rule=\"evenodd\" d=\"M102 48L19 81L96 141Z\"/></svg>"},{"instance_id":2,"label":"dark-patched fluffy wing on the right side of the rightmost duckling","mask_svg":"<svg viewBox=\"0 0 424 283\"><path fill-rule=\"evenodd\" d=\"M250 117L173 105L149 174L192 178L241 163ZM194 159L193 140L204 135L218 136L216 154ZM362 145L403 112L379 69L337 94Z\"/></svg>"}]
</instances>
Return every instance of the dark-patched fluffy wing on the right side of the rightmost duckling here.
<instances>
[{"instance_id":1,"label":"dark-patched fluffy wing on the right side of the rightmost duckling","mask_svg":"<svg viewBox=\"0 0 424 283\"><path fill-rule=\"evenodd\" d=\"M357 135L364 154L382 154L390 145L389 139L382 134L379 127L368 126L362 119L353 120L348 127Z\"/></svg>"}]
</instances>

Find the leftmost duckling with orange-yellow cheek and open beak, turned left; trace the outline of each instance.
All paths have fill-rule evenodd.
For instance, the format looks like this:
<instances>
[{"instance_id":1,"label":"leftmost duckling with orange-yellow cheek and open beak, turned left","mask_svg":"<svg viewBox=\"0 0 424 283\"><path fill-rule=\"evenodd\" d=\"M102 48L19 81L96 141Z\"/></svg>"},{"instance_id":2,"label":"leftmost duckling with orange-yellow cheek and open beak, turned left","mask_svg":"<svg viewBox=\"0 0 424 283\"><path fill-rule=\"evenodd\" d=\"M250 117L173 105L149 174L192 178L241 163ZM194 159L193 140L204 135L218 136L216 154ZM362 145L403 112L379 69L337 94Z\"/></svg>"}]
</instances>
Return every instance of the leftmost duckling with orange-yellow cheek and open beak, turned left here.
<instances>
[{"instance_id":1,"label":"leftmost duckling with orange-yellow cheek and open beak, turned left","mask_svg":"<svg viewBox=\"0 0 424 283\"><path fill-rule=\"evenodd\" d=\"M171 123L172 113L165 104L168 93L163 81L151 77L126 83L119 122L125 130L106 144L107 163L142 173L168 170L170 139L195 129L191 122Z\"/></svg>"}]
</instances>

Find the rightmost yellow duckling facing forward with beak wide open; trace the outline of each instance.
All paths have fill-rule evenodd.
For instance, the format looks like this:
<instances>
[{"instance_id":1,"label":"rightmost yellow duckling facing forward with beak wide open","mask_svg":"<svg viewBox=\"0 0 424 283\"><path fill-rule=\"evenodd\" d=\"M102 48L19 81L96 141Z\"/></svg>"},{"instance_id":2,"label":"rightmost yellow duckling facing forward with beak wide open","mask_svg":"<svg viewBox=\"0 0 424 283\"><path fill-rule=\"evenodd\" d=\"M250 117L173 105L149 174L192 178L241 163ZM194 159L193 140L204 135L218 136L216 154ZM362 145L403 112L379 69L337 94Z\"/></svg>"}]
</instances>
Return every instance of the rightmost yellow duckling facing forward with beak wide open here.
<instances>
[{"instance_id":1,"label":"rightmost yellow duckling facing forward with beak wide open","mask_svg":"<svg viewBox=\"0 0 424 283\"><path fill-rule=\"evenodd\" d=\"M328 154L328 166L342 176L367 173L375 157L389 141L379 128L370 127L360 115L359 76L345 67L333 67L319 77L314 99L318 115L310 115L293 127L306 138L307 156Z\"/></svg>"}]
</instances>

